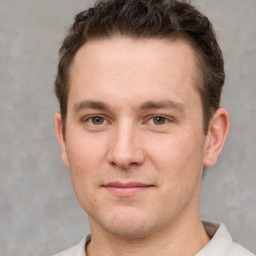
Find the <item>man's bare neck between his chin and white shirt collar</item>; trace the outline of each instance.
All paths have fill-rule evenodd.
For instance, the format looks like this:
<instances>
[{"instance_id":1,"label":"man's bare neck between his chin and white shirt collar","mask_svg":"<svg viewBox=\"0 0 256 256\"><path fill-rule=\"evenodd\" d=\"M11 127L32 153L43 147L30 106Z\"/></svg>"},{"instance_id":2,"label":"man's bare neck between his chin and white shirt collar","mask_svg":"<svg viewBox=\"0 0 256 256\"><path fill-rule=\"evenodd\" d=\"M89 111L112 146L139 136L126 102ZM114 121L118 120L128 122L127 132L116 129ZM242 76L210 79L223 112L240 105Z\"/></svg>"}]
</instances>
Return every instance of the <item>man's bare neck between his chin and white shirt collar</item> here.
<instances>
[{"instance_id":1,"label":"man's bare neck between his chin and white shirt collar","mask_svg":"<svg viewBox=\"0 0 256 256\"><path fill-rule=\"evenodd\" d=\"M175 226L169 226L161 232L134 239L120 238L92 229L87 256L193 256L210 238L199 217L179 222L176 220Z\"/></svg>"}]
</instances>

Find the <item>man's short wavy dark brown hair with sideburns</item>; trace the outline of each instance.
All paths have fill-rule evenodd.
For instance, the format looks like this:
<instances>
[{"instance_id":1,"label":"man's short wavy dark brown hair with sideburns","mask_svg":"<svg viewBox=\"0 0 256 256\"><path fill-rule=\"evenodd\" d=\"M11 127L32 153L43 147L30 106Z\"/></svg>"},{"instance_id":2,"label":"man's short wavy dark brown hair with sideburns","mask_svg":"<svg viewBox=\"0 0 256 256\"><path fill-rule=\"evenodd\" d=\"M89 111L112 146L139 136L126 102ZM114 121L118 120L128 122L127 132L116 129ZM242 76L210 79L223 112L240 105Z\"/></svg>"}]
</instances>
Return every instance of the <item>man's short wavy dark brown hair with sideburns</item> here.
<instances>
[{"instance_id":1,"label":"man's short wavy dark brown hair with sideburns","mask_svg":"<svg viewBox=\"0 0 256 256\"><path fill-rule=\"evenodd\" d=\"M55 92L65 133L69 71L77 51L87 42L121 35L131 38L185 39L194 49L200 72L197 86L207 132L219 108L225 80L224 62L212 24L186 1L101 0L75 17L60 48Z\"/></svg>"}]
</instances>

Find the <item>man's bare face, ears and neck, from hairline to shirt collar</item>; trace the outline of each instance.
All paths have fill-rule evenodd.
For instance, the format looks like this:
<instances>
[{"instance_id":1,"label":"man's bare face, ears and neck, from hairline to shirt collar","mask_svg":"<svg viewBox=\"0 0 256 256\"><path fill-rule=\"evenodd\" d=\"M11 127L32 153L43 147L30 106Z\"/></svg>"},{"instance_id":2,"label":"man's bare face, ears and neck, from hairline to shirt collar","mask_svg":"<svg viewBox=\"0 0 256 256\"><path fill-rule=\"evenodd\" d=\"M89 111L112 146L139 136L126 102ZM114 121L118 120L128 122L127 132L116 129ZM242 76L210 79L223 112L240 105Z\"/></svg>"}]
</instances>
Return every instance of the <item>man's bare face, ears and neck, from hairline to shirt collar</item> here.
<instances>
[{"instance_id":1,"label":"man's bare face, ears and neck, from hairline to shirt collar","mask_svg":"<svg viewBox=\"0 0 256 256\"><path fill-rule=\"evenodd\" d=\"M71 70L62 160L88 213L88 255L194 255L203 166L223 147L228 113L203 131L192 48L114 37L84 45ZM186 244L186 246L184 246Z\"/></svg>"}]
</instances>

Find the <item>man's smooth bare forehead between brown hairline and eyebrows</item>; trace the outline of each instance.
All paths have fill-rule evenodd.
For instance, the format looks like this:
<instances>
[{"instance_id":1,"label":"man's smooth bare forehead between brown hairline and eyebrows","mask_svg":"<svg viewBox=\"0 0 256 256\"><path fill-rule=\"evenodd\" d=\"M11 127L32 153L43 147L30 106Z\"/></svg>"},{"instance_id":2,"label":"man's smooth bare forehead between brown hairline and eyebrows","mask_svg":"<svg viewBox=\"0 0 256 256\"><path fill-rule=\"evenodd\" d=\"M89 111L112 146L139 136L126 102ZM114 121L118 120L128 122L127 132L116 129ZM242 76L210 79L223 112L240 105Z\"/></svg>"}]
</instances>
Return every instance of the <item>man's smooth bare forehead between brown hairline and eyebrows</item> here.
<instances>
[{"instance_id":1,"label":"man's smooth bare forehead between brown hairline and eyebrows","mask_svg":"<svg viewBox=\"0 0 256 256\"><path fill-rule=\"evenodd\" d=\"M103 98L117 93L127 100L125 95L142 99L145 91L147 96L151 92L152 97L166 97L170 88L177 98L194 90L197 65L185 40L114 37L81 47L70 75L71 98L90 98L97 92Z\"/></svg>"}]
</instances>

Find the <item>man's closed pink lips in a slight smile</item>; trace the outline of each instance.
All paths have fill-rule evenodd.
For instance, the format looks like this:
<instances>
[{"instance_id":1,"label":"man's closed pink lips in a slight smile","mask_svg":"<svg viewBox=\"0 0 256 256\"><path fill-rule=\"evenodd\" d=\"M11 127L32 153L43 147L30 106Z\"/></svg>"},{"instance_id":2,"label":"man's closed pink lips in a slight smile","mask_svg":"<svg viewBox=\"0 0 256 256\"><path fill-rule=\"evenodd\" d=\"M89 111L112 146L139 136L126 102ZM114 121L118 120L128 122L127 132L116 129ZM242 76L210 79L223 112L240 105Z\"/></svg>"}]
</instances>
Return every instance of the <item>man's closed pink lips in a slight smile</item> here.
<instances>
[{"instance_id":1,"label":"man's closed pink lips in a slight smile","mask_svg":"<svg viewBox=\"0 0 256 256\"><path fill-rule=\"evenodd\" d=\"M110 182L102 187L115 196L131 197L149 190L153 185L141 182Z\"/></svg>"}]
</instances>

